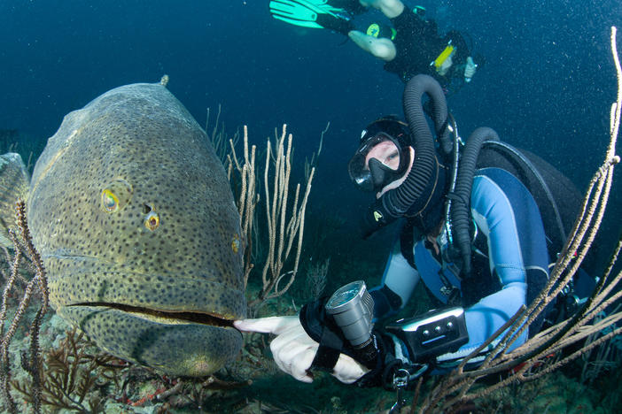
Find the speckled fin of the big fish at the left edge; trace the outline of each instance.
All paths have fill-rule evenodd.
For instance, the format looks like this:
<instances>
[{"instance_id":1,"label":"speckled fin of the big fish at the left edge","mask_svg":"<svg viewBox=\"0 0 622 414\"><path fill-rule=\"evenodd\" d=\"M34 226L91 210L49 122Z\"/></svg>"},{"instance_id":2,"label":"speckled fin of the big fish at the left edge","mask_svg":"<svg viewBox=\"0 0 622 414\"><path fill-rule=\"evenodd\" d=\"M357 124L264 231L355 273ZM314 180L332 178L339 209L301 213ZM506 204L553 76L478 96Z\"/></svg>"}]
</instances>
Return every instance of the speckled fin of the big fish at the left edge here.
<instances>
[{"instance_id":1,"label":"speckled fin of the big fish at the left edge","mask_svg":"<svg viewBox=\"0 0 622 414\"><path fill-rule=\"evenodd\" d=\"M0 156L0 245L12 247L9 228L15 224L15 203L26 201L29 185L26 165L19 154L8 152Z\"/></svg>"}]
</instances>

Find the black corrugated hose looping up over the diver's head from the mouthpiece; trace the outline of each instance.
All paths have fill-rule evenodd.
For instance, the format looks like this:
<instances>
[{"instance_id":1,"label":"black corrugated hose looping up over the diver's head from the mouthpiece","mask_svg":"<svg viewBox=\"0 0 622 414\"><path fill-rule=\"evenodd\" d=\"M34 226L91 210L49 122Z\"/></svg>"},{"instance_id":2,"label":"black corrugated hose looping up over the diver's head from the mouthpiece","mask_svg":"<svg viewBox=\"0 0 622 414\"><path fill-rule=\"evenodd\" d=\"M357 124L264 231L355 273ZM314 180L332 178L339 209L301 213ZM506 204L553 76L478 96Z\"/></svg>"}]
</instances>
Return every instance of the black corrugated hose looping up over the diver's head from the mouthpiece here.
<instances>
[{"instance_id":1,"label":"black corrugated hose looping up over the diver's head from the mouthpiece","mask_svg":"<svg viewBox=\"0 0 622 414\"><path fill-rule=\"evenodd\" d=\"M436 150L434 138L424 114L422 98L428 94L432 100L432 119L439 135L441 149L451 152L453 142L447 130L447 102L439 82L432 76L419 74L408 81L404 88L404 114L408 121L415 148L415 160L406 180L393 191L386 193L386 210L394 217L404 215L417 202L424 203L424 190L428 187L432 173L436 171Z\"/></svg>"}]
</instances>

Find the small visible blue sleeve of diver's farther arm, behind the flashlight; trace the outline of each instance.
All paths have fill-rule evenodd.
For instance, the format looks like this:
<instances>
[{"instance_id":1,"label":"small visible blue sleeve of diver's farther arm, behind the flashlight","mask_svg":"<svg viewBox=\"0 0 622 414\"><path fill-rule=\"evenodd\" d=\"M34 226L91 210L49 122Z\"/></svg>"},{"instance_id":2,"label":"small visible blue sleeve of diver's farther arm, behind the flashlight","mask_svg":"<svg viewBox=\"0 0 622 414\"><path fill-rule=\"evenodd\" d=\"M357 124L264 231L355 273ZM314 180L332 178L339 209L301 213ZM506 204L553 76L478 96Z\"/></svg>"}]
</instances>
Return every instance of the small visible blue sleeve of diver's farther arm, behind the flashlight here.
<instances>
[{"instance_id":1,"label":"small visible blue sleeve of diver's farther arm, behind the flashlight","mask_svg":"<svg viewBox=\"0 0 622 414\"><path fill-rule=\"evenodd\" d=\"M374 319L386 318L400 311L408 303L418 281L419 272L408 265L397 240L385 265L380 286L369 289L374 299Z\"/></svg>"}]
</instances>

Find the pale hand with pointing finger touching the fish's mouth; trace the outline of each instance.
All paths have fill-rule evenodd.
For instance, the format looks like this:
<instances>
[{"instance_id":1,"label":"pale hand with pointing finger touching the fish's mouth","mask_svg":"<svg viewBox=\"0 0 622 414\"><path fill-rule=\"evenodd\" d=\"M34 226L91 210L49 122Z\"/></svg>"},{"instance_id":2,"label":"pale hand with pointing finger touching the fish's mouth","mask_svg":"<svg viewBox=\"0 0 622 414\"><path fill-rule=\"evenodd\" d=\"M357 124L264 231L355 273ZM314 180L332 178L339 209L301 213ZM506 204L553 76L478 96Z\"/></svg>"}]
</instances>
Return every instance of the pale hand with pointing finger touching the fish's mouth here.
<instances>
[{"instance_id":1,"label":"pale hand with pointing finger touching the fish's mouth","mask_svg":"<svg viewBox=\"0 0 622 414\"><path fill-rule=\"evenodd\" d=\"M234 321L233 326L245 332L275 334L270 350L276 365L296 380L313 381L308 370L319 345L307 335L297 316L242 319ZM345 384L352 384L368 371L353 358L340 354L332 376Z\"/></svg>"}]
</instances>

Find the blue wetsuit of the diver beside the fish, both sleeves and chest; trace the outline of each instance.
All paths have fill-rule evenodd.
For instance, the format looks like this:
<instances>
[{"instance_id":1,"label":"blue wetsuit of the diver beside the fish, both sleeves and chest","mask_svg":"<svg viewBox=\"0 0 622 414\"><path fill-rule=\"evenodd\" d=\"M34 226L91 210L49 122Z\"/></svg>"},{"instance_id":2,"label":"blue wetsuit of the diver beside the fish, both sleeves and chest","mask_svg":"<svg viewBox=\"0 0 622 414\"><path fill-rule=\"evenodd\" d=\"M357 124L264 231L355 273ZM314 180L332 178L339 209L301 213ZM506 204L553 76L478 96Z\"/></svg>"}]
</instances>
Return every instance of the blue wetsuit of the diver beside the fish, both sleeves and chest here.
<instances>
[{"instance_id":1,"label":"blue wetsuit of the diver beside the fish, both sleeves and chest","mask_svg":"<svg viewBox=\"0 0 622 414\"><path fill-rule=\"evenodd\" d=\"M479 234L487 239L484 254L489 266L478 270L490 272L494 280L498 280L499 288L476 298L477 302L465 309L469 341L457 352L439 356L439 364L451 364L486 341L521 305L526 304L527 281L532 278L542 280L543 276L548 278L548 251L540 211L533 196L516 177L500 168L478 170L473 180L470 209ZM440 249L444 248L442 239L442 235L437 239ZM431 249L426 248L425 239L415 241L415 269L408 265L401 254L400 242L396 242L385 267L382 285L372 289L375 299L382 291L380 289L389 288L400 296L403 307L419 280L423 280L441 303L448 302L450 288L463 292L455 265L443 263L441 255L434 252L430 242L427 243ZM439 271L444 278L439 276ZM468 280L465 283L469 281L473 282ZM383 318L397 309L381 304L377 311L381 314L376 317ZM511 348L524 343L527 335L526 332L522 334ZM416 359L416 356L410 357Z\"/></svg>"}]
</instances>

